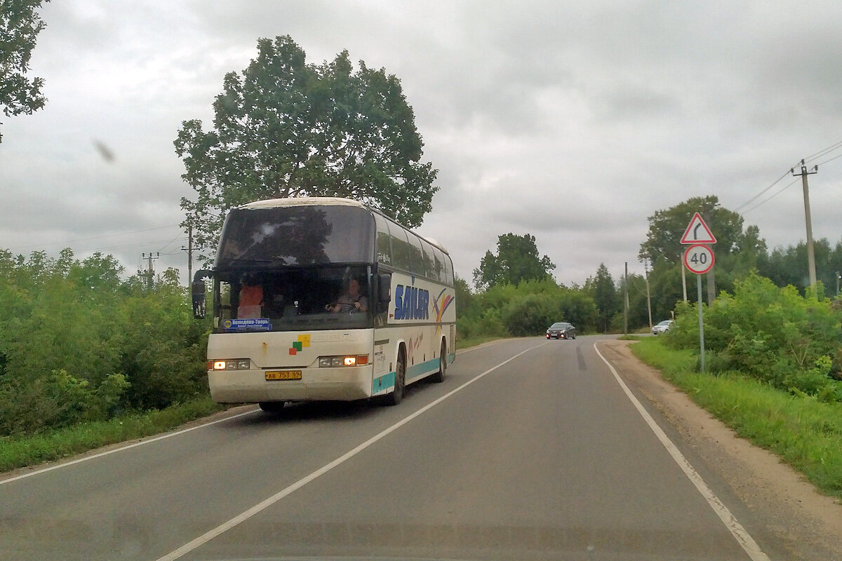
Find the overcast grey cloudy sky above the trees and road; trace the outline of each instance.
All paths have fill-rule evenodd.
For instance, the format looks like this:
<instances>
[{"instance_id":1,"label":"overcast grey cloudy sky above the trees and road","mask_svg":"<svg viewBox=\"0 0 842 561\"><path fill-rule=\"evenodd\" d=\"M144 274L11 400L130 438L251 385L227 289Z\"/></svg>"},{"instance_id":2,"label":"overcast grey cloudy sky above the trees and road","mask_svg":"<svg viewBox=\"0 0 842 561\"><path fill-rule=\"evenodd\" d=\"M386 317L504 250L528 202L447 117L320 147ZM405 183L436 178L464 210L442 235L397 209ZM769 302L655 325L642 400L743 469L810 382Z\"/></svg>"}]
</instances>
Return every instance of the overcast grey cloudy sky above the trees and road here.
<instances>
[{"instance_id":1,"label":"overcast grey cloudy sky above the trees and road","mask_svg":"<svg viewBox=\"0 0 842 561\"><path fill-rule=\"evenodd\" d=\"M153 251L186 278L179 199L194 193L173 140L183 120L210 126L222 77L259 37L289 34L316 63L347 49L400 78L439 170L418 232L469 282L507 232L536 236L561 283L600 262L642 273L647 217L709 194L770 248L797 244L800 178L746 203L842 141L838 0L55 0L41 14L30 75L49 101L0 116L0 247L104 251L129 273ZM810 198L813 235L832 244L839 155L810 162L828 161Z\"/></svg>"}]
</instances>

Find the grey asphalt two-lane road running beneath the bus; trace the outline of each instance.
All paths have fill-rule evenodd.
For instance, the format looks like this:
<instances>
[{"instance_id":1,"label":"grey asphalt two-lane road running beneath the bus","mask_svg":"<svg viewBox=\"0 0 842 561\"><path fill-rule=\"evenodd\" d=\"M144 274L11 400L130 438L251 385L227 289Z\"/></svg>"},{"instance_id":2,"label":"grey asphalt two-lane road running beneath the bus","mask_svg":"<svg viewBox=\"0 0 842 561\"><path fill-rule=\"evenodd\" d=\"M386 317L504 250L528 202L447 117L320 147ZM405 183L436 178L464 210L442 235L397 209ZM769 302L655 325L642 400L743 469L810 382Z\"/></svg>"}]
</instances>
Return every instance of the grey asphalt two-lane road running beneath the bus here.
<instances>
[{"instance_id":1,"label":"grey asphalt two-lane road running beneath the bus","mask_svg":"<svg viewBox=\"0 0 842 561\"><path fill-rule=\"evenodd\" d=\"M597 341L502 341L397 407L246 409L0 478L0 559L786 558L645 405L717 514Z\"/></svg>"}]
</instances>

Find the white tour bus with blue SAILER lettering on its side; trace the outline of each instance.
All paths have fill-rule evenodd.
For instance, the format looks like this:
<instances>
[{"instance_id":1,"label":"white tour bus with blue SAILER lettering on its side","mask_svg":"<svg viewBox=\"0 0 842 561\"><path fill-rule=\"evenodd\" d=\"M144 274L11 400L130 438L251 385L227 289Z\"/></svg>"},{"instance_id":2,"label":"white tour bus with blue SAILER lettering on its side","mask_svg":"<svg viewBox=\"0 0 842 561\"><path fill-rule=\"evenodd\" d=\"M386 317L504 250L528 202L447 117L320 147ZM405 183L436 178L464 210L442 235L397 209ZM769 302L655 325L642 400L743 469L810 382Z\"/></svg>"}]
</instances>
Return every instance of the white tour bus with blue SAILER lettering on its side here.
<instances>
[{"instance_id":1,"label":"white tour bus with blue SAILER lettering on its side","mask_svg":"<svg viewBox=\"0 0 842 561\"><path fill-rule=\"evenodd\" d=\"M213 279L208 384L218 403L361 400L396 405L456 357L453 262L346 198L278 198L232 209L216 261L195 274L196 317Z\"/></svg>"}]
</instances>

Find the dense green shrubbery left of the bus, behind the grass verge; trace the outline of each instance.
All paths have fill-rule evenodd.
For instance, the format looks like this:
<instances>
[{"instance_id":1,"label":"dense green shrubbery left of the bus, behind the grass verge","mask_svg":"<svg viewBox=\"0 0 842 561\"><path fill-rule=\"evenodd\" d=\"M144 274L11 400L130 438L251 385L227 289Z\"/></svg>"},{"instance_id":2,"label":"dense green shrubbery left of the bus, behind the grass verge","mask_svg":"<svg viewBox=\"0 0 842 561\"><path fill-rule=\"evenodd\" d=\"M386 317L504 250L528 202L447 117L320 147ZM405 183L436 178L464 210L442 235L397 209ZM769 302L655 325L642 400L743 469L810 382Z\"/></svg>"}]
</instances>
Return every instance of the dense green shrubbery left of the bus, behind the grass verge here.
<instances>
[{"instance_id":1,"label":"dense green shrubbery left of the bus, behind the grass verge","mask_svg":"<svg viewBox=\"0 0 842 561\"><path fill-rule=\"evenodd\" d=\"M204 391L206 325L178 275L149 290L113 257L0 251L0 436L104 420Z\"/></svg>"}]
</instances>

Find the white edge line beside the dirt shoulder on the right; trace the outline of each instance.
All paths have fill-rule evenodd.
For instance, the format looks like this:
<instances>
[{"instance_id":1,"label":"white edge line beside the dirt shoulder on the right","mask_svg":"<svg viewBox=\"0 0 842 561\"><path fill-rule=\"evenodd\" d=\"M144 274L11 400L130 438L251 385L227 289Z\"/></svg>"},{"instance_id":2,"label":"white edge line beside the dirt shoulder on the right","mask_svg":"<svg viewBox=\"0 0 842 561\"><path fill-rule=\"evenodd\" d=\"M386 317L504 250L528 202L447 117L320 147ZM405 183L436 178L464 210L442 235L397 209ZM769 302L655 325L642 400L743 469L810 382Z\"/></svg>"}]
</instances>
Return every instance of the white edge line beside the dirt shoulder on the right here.
<instances>
[{"instance_id":1,"label":"white edge line beside the dirt shoulder on the right","mask_svg":"<svg viewBox=\"0 0 842 561\"><path fill-rule=\"evenodd\" d=\"M626 396L629 400L632 401L632 405L635 406L637 412L643 417L643 420L646 421L649 428L655 433L655 436L658 437L658 440L661 441L664 447L666 447L667 452L669 455L673 457L675 463L679 464L679 468L685 473L688 479L695 485L695 488L699 490L701 495L705 497L707 500L707 504L711 505L711 509L717 513L719 519L722 523L727 527L728 531L731 532L734 538L736 538L737 542L743 547L745 553L749 554L749 558L752 561L770 561L769 556L767 556L757 542L754 541L754 538L749 535L749 532L743 527L742 524L739 523L736 516L733 516L731 511L728 510L728 507L722 504L722 500L719 500L719 497L711 490L710 487L707 486L704 479L701 479L701 475L695 470L693 465L685 458L684 454L682 454L678 447L675 446L674 442L669 440L667 433L658 426L658 423L655 422L652 415L649 415L649 412L643 408L640 401L632 394L632 390L623 382L620 375L615 370L614 366L608 362L608 360L602 356L600 349L596 347L596 343L594 343L594 351L596 354L600 355L602 362L605 363L612 374L614 374L614 378L617 381L617 384L620 384L620 387L626 392Z\"/></svg>"}]
</instances>

